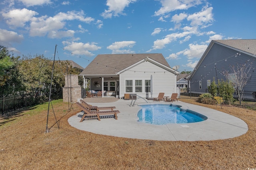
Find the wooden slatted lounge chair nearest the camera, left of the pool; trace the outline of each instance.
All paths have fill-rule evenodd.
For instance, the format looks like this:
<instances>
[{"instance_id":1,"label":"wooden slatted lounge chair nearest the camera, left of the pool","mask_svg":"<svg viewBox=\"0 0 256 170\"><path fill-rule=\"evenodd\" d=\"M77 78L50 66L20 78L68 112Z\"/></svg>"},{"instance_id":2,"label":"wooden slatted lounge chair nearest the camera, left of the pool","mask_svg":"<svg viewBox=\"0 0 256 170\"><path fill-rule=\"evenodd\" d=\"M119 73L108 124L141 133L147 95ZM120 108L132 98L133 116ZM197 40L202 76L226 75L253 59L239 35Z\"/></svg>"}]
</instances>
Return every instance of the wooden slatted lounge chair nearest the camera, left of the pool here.
<instances>
[{"instance_id":1,"label":"wooden slatted lounge chair nearest the camera, left of the pool","mask_svg":"<svg viewBox=\"0 0 256 170\"><path fill-rule=\"evenodd\" d=\"M114 114L115 119L117 120L117 113L120 113L118 110L108 110L108 111L90 111L84 105L79 102L76 102L77 106L82 109L84 115L82 116L80 122L84 121L84 119L98 119L100 121L100 115L112 115Z\"/></svg>"}]
</instances>

